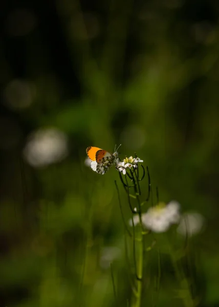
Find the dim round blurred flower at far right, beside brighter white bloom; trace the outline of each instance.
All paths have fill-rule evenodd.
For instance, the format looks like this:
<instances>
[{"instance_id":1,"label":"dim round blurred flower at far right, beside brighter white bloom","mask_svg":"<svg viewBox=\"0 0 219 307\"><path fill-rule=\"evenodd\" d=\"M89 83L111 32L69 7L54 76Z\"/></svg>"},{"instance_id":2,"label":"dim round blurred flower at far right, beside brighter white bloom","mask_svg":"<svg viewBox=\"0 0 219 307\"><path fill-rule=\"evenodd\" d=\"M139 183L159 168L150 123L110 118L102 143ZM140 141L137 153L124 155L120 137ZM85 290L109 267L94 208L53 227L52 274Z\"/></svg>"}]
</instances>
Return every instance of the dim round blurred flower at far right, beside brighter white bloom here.
<instances>
[{"instance_id":1,"label":"dim round blurred flower at far right, beside brighter white bloom","mask_svg":"<svg viewBox=\"0 0 219 307\"><path fill-rule=\"evenodd\" d=\"M181 216L177 232L192 236L202 231L205 218L198 212L187 212Z\"/></svg>"}]
</instances>

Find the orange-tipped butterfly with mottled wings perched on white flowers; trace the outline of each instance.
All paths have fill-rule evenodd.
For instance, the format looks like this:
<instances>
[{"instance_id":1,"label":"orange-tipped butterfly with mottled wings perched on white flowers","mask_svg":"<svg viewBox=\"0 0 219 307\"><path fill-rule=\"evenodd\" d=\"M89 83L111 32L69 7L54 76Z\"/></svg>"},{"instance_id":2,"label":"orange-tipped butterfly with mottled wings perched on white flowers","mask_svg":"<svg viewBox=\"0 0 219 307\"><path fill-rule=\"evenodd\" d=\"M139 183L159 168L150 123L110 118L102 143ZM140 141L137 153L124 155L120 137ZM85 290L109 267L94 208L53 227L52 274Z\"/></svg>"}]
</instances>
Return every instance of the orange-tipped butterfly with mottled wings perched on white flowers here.
<instances>
[{"instance_id":1,"label":"orange-tipped butterfly with mottled wings perched on white flowers","mask_svg":"<svg viewBox=\"0 0 219 307\"><path fill-rule=\"evenodd\" d=\"M121 144L119 145L119 147ZM115 146L115 152L109 153L108 151L98 148L98 147L87 147L86 154L92 160L91 168L96 171L98 174L104 174L109 168L111 168L114 164L117 163L117 159L119 156L118 149Z\"/></svg>"}]
</instances>

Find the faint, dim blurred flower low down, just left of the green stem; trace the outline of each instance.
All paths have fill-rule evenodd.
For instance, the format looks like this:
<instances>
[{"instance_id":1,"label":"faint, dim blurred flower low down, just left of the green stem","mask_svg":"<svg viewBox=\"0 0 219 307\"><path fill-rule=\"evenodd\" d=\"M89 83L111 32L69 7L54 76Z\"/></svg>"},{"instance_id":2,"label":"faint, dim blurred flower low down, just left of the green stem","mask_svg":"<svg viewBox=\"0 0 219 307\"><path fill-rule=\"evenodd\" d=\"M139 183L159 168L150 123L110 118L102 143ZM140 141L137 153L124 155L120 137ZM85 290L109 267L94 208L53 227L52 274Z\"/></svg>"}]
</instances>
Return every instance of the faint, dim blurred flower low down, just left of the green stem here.
<instances>
[{"instance_id":1,"label":"faint, dim blurred flower low down, just left of the green stem","mask_svg":"<svg viewBox=\"0 0 219 307\"><path fill-rule=\"evenodd\" d=\"M115 246L104 247L100 255L100 267L108 269L110 264L121 256L121 250Z\"/></svg>"}]
</instances>

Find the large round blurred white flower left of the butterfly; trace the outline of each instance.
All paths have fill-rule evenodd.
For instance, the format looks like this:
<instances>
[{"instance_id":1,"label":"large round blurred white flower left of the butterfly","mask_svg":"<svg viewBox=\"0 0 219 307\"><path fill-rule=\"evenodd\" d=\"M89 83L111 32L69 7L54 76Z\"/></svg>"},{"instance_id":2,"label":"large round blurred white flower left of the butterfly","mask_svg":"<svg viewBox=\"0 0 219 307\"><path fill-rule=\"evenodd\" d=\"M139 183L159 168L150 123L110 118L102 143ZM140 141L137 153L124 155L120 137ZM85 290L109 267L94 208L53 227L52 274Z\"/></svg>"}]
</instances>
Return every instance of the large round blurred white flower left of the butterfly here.
<instances>
[{"instance_id":1,"label":"large round blurred white flower left of the butterfly","mask_svg":"<svg viewBox=\"0 0 219 307\"><path fill-rule=\"evenodd\" d=\"M34 167L61 161L68 155L67 136L56 128L39 129L30 137L24 156Z\"/></svg>"}]
</instances>

